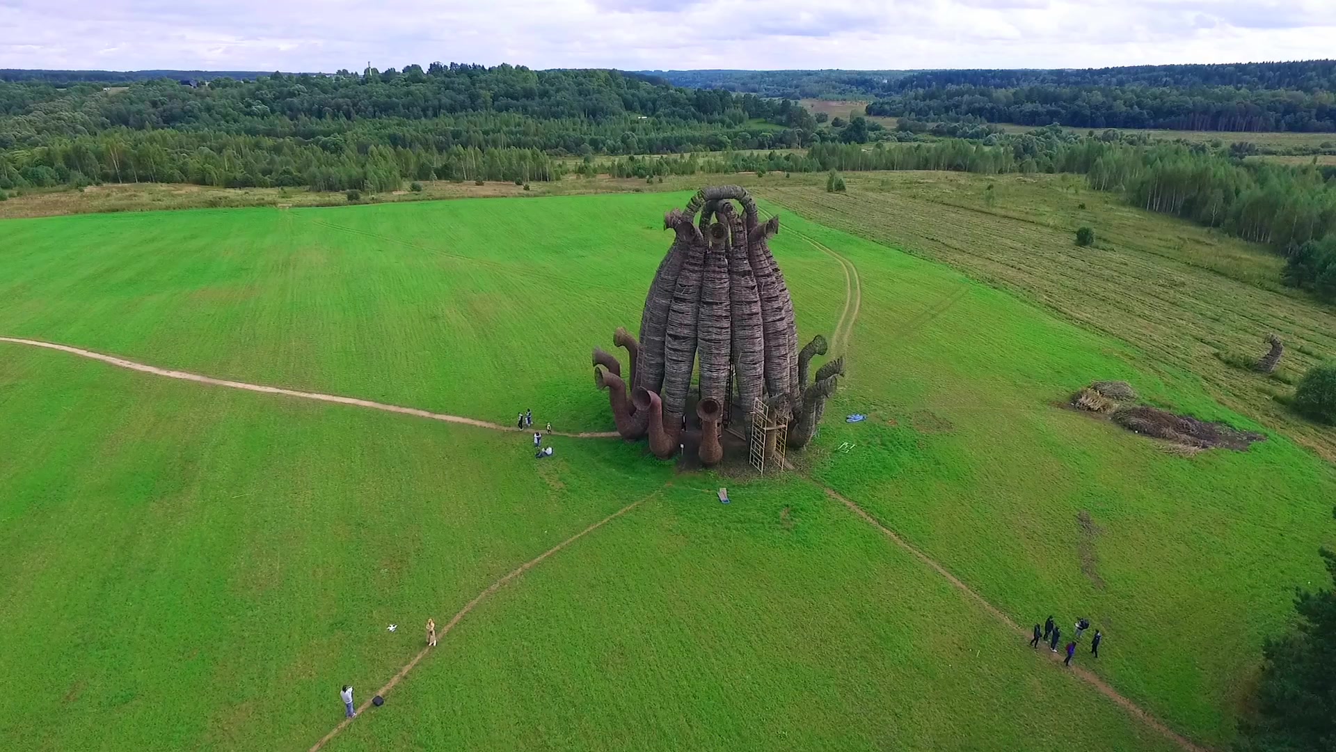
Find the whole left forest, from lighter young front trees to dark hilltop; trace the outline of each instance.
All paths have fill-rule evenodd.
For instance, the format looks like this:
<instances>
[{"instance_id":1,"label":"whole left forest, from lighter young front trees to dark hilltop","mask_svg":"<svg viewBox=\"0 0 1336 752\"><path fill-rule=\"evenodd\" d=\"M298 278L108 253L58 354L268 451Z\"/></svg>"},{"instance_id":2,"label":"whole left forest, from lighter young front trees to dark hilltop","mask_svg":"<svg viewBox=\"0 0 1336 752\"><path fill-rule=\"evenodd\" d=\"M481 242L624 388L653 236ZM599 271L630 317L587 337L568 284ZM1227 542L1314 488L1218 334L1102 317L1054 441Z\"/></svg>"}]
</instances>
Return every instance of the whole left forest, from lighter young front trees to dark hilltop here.
<instances>
[{"instance_id":1,"label":"whole left forest, from lighter young front trees to dark hilltop","mask_svg":"<svg viewBox=\"0 0 1336 752\"><path fill-rule=\"evenodd\" d=\"M0 190L92 182L379 190L552 179L553 157L808 146L784 99L617 71L442 66L335 75L0 83Z\"/></svg>"}]
</instances>

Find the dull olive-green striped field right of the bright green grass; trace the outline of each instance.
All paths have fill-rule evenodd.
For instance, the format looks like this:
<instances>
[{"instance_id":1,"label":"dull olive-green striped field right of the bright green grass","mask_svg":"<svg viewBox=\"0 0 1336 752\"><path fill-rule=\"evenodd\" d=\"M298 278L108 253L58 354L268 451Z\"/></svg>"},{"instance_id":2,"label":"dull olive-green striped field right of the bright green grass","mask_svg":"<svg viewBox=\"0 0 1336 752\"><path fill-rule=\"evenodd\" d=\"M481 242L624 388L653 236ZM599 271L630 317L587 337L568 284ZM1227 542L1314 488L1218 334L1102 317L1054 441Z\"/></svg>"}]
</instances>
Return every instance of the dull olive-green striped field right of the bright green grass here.
<instances>
[{"instance_id":1,"label":"dull olive-green striped field right of the bright green grass","mask_svg":"<svg viewBox=\"0 0 1336 752\"><path fill-rule=\"evenodd\" d=\"M1284 286L1284 258L1268 249L1133 209L1075 175L854 173L846 182L847 195L778 182L754 190L1128 343L1138 369L1200 381L1228 407L1336 460L1336 432L1277 401L1336 357L1333 309ZM1094 229L1094 248L1073 242L1082 225ZM1268 333L1287 344L1276 375L1229 365L1260 357Z\"/></svg>"}]
</instances>

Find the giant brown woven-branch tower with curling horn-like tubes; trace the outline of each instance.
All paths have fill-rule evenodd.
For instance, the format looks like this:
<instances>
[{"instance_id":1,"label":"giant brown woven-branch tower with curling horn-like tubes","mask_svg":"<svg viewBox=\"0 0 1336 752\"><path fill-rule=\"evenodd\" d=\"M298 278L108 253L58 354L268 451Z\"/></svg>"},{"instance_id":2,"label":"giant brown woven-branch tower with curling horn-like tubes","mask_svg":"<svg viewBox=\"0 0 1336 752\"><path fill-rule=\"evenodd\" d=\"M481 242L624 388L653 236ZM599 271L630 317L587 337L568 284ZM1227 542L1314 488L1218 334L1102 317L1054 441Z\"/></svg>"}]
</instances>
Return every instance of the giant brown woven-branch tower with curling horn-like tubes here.
<instances>
[{"instance_id":1,"label":"giant brown woven-branch tower with curling horn-like tubes","mask_svg":"<svg viewBox=\"0 0 1336 752\"><path fill-rule=\"evenodd\" d=\"M627 439L648 435L655 455L672 456L699 361L695 412L704 464L723 459L719 431L731 408L744 424L784 421L788 446L806 446L844 365L831 360L807 383L808 364L827 344L818 336L798 348L794 302L767 242L779 219L760 222L745 189L716 186L664 215L664 229L675 238L645 296L640 337L621 328L613 336L627 349L629 380L616 357L593 351L595 384L609 391L617 431ZM766 416L755 415L758 404Z\"/></svg>"}]
</instances>

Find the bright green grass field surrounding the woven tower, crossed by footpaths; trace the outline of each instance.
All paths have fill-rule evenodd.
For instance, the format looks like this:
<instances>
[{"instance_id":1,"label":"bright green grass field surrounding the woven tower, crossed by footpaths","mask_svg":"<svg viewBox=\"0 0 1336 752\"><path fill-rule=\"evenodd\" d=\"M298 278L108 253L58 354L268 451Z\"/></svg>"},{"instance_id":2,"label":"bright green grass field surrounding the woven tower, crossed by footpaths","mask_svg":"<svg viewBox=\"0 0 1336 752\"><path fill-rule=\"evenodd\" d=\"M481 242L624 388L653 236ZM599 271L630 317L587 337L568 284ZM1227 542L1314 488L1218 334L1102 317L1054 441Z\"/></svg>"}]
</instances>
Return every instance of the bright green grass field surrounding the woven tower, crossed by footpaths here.
<instances>
[{"instance_id":1,"label":"bright green grass field surrounding the woven tower, crossed by footpaths","mask_svg":"<svg viewBox=\"0 0 1336 752\"><path fill-rule=\"evenodd\" d=\"M9 219L0 336L608 430L589 348L635 328L663 213L685 199ZM800 336L831 335L846 289L806 238L854 262L862 302L843 391L804 472L779 480L679 475L616 440L554 439L534 463L524 435L0 343L0 737L306 749L341 720L337 688L365 700L429 616L645 499L482 601L327 749L1170 748L820 483L1021 624L1090 617L1108 638L1081 665L1228 743L1263 638L1336 545L1331 466L1288 427L1185 458L1055 407L1124 377L1157 404L1263 420L1138 341L782 217ZM839 420L854 411L874 420Z\"/></svg>"}]
</instances>

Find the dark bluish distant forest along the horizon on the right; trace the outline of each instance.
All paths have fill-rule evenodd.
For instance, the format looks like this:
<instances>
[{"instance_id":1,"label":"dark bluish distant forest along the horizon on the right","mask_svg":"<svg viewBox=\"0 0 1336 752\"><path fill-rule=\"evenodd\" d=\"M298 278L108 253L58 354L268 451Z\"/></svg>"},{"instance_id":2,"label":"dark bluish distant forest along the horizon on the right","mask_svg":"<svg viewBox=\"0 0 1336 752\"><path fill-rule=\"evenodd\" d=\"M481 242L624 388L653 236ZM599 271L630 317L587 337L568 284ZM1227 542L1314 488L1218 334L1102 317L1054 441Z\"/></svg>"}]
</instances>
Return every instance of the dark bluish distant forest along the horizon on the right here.
<instances>
[{"instance_id":1,"label":"dark bluish distant forest along the horizon on the right","mask_svg":"<svg viewBox=\"0 0 1336 752\"><path fill-rule=\"evenodd\" d=\"M872 98L868 115L1081 128L1336 131L1336 60L1086 70L652 71L776 98Z\"/></svg>"}]
</instances>

